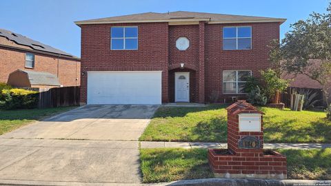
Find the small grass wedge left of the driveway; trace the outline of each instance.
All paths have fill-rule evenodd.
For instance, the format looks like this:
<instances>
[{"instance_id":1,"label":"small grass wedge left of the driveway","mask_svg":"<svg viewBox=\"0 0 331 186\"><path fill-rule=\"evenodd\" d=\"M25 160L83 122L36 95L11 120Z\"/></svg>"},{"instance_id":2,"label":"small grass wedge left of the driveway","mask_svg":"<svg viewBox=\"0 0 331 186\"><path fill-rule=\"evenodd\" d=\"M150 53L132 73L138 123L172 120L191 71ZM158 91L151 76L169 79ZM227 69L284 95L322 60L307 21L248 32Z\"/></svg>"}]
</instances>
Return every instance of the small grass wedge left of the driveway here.
<instances>
[{"instance_id":1,"label":"small grass wedge left of the driveway","mask_svg":"<svg viewBox=\"0 0 331 186\"><path fill-rule=\"evenodd\" d=\"M55 107L30 110L0 110L0 135L26 125L32 121L72 110L75 107Z\"/></svg>"}]
</instances>

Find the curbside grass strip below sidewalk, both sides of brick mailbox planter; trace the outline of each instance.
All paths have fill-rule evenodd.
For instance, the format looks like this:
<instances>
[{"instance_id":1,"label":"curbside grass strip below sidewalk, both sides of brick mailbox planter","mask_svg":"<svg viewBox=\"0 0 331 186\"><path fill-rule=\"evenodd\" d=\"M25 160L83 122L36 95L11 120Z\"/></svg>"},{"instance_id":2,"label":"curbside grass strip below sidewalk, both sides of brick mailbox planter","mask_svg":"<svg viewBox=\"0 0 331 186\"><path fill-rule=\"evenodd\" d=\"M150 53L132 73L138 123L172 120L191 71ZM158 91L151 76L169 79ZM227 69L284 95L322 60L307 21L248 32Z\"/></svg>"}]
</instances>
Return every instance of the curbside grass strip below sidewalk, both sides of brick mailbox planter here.
<instances>
[{"instance_id":1,"label":"curbside grass strip below sidewalk, both sides of brick mailbox planter","mask_svg":"<svg viewBox=\"0 0 331 186\"><path fill-rule=\"evenodd\" d=\"M277 149L288 158L289 179L331 179L331 149ZM141 149L143 183L212 178L207 149Z\"/></svg>"}]
</instances>

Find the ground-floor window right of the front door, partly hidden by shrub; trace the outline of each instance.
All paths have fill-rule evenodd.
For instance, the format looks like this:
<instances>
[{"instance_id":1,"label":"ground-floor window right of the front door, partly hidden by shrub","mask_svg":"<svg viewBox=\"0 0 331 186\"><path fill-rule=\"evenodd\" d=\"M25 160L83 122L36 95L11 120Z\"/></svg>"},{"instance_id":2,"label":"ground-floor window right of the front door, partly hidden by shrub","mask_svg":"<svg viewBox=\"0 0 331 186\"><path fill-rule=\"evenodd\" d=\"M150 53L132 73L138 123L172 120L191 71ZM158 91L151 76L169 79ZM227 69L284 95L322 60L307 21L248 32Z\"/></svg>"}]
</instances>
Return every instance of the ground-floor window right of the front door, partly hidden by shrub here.
<instances>
[{"instance_id":1,"label":"ground-floor window right of the front door, partly hidden by shrub","mask_svg":"<svg viewBox=\"0 0 331 186\"><path fill-rule=\"evenodd\" d=\"M223 93L245 94L244 87L248 76L252 76L250 70L225 70L223 71Z\"/></svg>"}]
</instances>

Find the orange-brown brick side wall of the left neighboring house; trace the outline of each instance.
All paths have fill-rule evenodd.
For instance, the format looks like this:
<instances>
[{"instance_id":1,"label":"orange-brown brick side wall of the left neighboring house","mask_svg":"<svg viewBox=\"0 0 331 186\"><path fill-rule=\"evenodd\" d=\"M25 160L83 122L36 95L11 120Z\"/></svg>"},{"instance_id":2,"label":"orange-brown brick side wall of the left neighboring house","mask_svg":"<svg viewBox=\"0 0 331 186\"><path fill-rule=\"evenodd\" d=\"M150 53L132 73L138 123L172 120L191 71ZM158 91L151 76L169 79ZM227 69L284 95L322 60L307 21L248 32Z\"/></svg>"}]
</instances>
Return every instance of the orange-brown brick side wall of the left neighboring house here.
<instances>
[{"instance_id":1,"label":"orange-brown brick side wall of the left neighboring house","mask_svg":"<svg viewBox=\"0 0 331 186\"><path fill-rule=\"evenodd\" d=\"M20 69L50 72L58 76L61 85L65 87L80 85L81 63L79 59L59 58L54 55L33 52L30 51L30 48L17 45L3 37L0 37L0 44L22 48L21 50L0 46L0 82L7 83L9 74ZM25 67L27 50L29 50L29 53L34 54L34 68Z\"/></svg>"}]
</instances>

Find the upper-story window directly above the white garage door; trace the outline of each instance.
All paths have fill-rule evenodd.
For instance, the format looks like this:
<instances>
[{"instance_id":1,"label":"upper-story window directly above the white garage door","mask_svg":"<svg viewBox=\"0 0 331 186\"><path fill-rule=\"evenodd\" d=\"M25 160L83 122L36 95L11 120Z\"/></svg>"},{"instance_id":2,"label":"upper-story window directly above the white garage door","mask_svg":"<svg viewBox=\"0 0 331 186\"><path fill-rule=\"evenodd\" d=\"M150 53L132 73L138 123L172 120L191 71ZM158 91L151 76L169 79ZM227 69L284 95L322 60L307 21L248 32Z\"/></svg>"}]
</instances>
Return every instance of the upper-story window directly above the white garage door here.
<instances>
[{"instance_id":1,"label":"upper-story window directly above the white garage door","mask_svg":"<svg viewBox=\"0 0 331 186\"><path fill-rule=\"evenodd\" d=\"M138 50L138 28L112 27L111 50Z\"/></svg>"}]
</instances>

